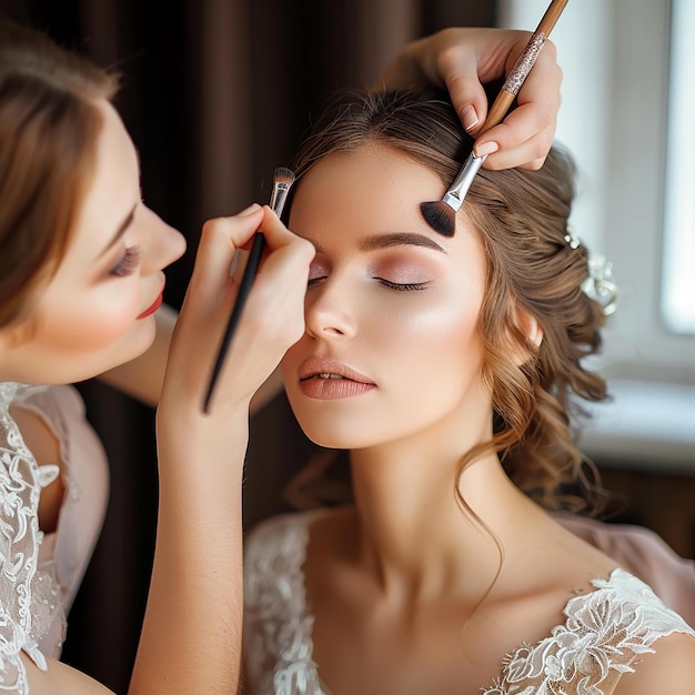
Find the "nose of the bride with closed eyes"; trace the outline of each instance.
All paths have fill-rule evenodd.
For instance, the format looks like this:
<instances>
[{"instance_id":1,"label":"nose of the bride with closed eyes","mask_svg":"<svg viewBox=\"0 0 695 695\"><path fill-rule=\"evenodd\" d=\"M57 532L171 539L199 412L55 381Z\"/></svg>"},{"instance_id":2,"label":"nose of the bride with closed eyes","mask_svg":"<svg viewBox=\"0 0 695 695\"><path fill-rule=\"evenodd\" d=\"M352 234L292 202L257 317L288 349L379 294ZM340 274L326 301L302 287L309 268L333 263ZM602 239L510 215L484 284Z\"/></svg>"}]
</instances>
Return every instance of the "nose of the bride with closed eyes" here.
<instances>
[{"instance_id":1,"label":"nose of the bride with closed eyes","mask_svg":"<svg viewBox=\"0 0 695 695\"><path fill-rule=\"evenodd\" d=\"M356 321L350 293L344 284L326 279L306 293L306 334L326 340L344 340L355 334Z\"/></svg>"}]
</instances>

